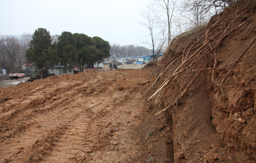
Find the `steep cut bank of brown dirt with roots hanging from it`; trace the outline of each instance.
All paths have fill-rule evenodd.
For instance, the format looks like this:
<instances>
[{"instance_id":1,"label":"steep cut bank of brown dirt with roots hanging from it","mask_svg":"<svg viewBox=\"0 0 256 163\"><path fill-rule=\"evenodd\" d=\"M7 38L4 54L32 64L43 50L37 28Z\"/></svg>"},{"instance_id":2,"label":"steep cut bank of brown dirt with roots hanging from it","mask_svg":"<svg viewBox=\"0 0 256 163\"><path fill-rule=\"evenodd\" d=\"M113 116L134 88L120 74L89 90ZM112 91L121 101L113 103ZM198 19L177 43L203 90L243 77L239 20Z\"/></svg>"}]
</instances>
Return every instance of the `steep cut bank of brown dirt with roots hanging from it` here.
<instances>
[{"instance_id":1,"label":"steep cut bank of brown dirt with roots hanging from it","mask_svg":"<svg viewBox=\"0 0 256 163\"><path fill-rule=\"evenodd\" d=\"M172 119L175 162L256 161L255 17L254 0L237 1L165 52L146 98Z\"/></svg>"}]
</instances>

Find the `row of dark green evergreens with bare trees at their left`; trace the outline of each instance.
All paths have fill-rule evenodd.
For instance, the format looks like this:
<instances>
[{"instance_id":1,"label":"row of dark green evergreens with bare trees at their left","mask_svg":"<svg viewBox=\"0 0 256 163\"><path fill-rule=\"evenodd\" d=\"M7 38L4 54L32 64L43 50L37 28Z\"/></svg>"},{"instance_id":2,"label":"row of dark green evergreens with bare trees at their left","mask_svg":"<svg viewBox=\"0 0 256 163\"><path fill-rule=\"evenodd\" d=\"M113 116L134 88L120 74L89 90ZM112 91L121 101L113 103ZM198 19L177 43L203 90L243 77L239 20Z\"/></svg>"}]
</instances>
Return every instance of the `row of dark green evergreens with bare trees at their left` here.
<instances>
[{"instance_id":1,"label":"row of dark green evergreens with bare trees at their left","mask_svg":"<svg viewBox=\"0 0 256 163\"><path fill-rule=\"evenodd\" d=\"M14 37L0 40L0 67L7 68L8 73L20 70L22 64L33 64L41 71L59 63L83 67L93 67L94 63L110 56L109 42L100 37L88 37L85 34L62 32L61 35L50 35L44 28L38 28L34 34L23 34L22 40Z\"/></svg>"}]
</instances>

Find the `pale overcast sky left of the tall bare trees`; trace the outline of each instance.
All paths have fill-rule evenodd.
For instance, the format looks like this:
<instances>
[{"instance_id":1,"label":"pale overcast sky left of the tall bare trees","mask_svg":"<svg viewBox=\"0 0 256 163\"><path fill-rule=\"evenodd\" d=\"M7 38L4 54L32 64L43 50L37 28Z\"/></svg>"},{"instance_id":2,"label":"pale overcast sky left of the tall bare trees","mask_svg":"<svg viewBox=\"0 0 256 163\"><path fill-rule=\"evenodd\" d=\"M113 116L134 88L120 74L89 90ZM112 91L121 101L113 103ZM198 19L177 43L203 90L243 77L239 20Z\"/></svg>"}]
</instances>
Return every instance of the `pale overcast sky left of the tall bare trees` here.
<instances>
[{"instance_id":1,"label":"pale overcast sky left of the tall bare trees","mask_svg":"<svg viewBox=\"0 0 256 163\"><path fill-rule=\"evenodd\" d=\"M98 36L110 43L143 44L149 31L138 24L147 0L0 0L0 35L33 34L45 28L51 35L68 31Z\"/></svg>"}]
</instances>

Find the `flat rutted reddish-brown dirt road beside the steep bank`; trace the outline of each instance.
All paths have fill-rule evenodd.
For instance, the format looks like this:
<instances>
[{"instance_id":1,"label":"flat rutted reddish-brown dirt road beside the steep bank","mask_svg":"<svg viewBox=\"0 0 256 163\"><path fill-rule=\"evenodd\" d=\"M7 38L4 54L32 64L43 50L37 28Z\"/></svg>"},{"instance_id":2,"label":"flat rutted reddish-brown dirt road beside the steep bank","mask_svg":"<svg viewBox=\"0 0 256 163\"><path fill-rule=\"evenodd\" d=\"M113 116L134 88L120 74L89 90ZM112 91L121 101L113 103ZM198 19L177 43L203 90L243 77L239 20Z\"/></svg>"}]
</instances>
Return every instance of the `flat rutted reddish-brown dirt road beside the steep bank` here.
<instances>
[{"instance_id":1,"label":"flat rutted reddish-brown dirt road beside the steep bank","mask_svg":"<svg viewBox=\"0 0 256 163\"><path fill-rule=\"evenodd\" d=\"M91 71L1 88L0 162L147 160L134 135L154 79L146 70Z\"/></svg>"}]
</instances>

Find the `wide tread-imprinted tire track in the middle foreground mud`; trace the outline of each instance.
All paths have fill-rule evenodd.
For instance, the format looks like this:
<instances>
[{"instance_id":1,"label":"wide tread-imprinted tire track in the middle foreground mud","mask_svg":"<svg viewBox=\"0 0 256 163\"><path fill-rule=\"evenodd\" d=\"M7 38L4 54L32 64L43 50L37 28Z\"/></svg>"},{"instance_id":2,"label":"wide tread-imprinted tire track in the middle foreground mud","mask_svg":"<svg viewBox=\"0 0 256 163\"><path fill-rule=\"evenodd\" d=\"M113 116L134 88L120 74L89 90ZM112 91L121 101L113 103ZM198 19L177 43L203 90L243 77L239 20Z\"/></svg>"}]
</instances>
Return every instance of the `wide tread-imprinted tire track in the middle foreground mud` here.
<instances>
[{"instance_id":1,"label":"wide tread-imprinted tire track in the middle foreground mud","mask_svg":"<svg viewBox=\"0 0 256 163\"><path fill-rule=\"evenodd\" d=\"M42 158L43 162L104 162L120 155L118 152L109 155L111 150L123 150L124 147L129 149L129 143L133 141L126 137L130 131L124 125L131 122L131 117L138 116L140 111L131 111L124 107L113 108L112 98L85 101L93 104L88 104L84 109L80 108L83 111L76 120L67 124L65 134L56 141L52 152ZM123 141L124 139L128 141Z\"/></svg>"}]
</instances>

